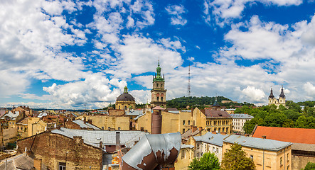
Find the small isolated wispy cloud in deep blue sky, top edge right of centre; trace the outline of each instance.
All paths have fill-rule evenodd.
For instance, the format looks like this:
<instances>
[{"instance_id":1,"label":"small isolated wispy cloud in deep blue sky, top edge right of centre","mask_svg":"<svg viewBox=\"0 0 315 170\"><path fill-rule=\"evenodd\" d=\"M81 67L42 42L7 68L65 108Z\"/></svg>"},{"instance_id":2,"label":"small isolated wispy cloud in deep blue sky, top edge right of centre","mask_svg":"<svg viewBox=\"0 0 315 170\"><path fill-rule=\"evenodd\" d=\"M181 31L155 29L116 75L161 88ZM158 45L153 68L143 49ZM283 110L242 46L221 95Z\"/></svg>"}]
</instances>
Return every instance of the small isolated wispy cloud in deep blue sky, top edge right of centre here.
<instances>
[{"instance_id":1,"label":"small isolated wispy cloud in deep blue sky, top edge right of centre","mask_svg":"<svg viewBox=\"0 0 315 170\"><path fill-rule=\"evenodd\" d=\"M177 6L167 6L166 11L171 16L171 24L172 25L181 25L184 26L187 23L186 18L183 18L183 13L186 13L186 9L183 7L183 5Z\"/></svg>"}]
</instances>

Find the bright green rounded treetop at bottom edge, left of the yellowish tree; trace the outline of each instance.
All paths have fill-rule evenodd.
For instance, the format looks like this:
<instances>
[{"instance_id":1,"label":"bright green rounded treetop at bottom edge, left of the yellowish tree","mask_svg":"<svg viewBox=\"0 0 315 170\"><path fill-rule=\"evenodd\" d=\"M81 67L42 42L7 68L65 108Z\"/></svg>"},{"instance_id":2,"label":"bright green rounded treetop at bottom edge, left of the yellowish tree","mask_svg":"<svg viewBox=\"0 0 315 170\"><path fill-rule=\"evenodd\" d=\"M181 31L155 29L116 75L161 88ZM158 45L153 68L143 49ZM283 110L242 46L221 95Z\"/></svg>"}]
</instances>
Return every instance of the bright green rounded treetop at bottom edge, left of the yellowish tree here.
<instances>
[{"instance_id":1,"label":"bright green rounded treetop at bottom edge, left of the yellowish tree","mask_svg":"<svg viewBox=\"0 0 315 170\"><path fill-rule=\"evenodd\" d=\"M188 166L189 170L218 170L220 169L219 159L215 157L215 154L206 152L200 159L193 159Z\"/></svg>"}]
</instances>

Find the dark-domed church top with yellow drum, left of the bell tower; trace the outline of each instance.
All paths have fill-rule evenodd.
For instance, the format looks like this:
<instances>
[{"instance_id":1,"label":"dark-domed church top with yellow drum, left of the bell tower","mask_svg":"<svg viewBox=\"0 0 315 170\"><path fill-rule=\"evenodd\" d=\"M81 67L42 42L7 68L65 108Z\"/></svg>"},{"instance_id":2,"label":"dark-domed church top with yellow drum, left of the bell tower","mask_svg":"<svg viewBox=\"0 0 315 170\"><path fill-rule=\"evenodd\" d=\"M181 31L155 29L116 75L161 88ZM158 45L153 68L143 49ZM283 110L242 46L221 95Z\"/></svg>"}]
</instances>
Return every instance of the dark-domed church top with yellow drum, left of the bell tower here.
<instances>
[{"instance_id":1,"label":"dark-domed church top with yellow drum, left of the bell tower","mask_svg":"<svg viewBox=\"0 0 315 170\"><path fill-rule=\"evenodd\" d=\"M127 86L124 87L124 93L119 95L116 99L115 108L118 110L127 111L127 109L136 109L136 101L131 94L128 94Z\"/></svg>"}]
</instances>

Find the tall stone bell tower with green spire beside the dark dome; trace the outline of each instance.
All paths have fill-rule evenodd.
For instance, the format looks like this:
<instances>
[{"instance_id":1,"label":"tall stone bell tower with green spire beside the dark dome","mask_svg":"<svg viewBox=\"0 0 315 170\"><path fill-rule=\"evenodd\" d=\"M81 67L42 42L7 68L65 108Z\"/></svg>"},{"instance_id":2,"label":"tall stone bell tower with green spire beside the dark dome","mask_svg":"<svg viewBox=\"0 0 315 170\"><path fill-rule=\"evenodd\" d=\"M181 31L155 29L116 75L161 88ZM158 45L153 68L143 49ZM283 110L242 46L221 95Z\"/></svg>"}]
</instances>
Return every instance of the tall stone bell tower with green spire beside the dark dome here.
<instances>
[{"instance_id":1,"label":"tall stone bell tower with green spire beside the dark dome","mask_svg":"<svg viewBox=\"0 0 315 170\"><path fill-rule=\"evenodd\" d=\"M156 67L156 74L153 77L153 89L151 89L151 106L166 108L166 89L164 89L164 75L161 77L160 60Z\"/></svg>"}]
</instances>

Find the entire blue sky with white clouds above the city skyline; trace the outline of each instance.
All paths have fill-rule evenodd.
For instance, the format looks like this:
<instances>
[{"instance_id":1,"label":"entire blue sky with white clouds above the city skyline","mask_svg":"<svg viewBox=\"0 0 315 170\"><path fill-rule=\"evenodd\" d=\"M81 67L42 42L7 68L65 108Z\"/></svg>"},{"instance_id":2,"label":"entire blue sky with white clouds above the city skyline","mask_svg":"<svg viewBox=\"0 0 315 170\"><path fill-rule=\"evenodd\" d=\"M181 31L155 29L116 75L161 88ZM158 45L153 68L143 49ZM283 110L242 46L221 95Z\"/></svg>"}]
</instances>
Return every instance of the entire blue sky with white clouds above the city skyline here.
<instances>
[{"instance_id":1,"label":"entire blue sky with white clouds above the city skyline","mask_svg":"<svg viewBox=\"0 0 315 170\"><path fill-rule=\"evenodd\" d=\"M0 106L102 108L128 86L151 100L160 57L167 99L314 100L315 2L0 1Z\"/></svg>"}]
</instances>

